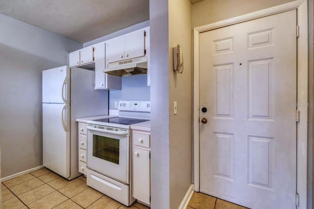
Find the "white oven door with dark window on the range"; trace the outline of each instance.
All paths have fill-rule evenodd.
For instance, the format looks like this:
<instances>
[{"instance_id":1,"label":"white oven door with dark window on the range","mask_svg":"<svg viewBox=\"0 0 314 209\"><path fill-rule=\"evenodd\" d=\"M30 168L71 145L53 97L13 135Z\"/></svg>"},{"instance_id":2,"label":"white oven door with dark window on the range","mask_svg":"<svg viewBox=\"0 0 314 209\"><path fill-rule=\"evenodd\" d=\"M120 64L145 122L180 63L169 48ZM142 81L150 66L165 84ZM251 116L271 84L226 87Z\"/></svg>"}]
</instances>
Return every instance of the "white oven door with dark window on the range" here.
<instances>
[{"instance_id":1,"label":"white oven door with dark window on the range","mask_svg":"<svg viewBox=\"0 0 314 209\"><path fill-rule=\"evenodd\" d=\"M130 130L87 129L87 167L129 184Z\"/></svg>"}]
</instances>

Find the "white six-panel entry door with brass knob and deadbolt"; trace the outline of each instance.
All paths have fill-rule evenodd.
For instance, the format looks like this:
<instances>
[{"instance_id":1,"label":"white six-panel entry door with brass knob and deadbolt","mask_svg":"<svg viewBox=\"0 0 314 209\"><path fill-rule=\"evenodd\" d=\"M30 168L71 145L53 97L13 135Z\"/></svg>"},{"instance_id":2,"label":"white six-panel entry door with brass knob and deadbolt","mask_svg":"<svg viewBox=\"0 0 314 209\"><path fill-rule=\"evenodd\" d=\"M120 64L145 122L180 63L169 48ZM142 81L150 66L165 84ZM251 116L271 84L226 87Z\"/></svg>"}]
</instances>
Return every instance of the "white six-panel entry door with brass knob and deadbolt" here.
<instances>
[{"instance_id":1,"label":"white six-panel entry door with brass knob and deadbolt","mask_svg":"<svg viewBox=\"0 0 314 209\"><path fill-rule=\"evenodd\" d=\"M295 209L296 10L199 38L200 191Z\"/></svg>"}]
</instances>

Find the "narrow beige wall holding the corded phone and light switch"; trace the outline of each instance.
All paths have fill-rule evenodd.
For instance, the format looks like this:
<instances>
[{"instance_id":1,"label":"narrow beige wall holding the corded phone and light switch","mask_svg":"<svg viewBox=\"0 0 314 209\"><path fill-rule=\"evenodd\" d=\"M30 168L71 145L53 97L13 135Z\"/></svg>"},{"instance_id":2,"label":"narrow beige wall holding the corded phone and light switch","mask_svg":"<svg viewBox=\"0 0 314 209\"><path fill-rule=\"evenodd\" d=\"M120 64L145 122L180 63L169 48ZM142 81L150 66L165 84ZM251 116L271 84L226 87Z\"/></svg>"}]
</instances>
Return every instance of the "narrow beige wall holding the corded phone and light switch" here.
<instances>
[{"instance_id":1,"label":"narrow beige wall holding the corded phone and light switch","mask_svg":"<svg viewBox=\"0 0 314 209\"><path fill-rule=\"evenodd\" d=\"M173 70L172 47L178 44L184 56L182 74ZM179 207L192 181L192 82L192 4L169 0L170 209Z\"/></svg>"}]
</instances>

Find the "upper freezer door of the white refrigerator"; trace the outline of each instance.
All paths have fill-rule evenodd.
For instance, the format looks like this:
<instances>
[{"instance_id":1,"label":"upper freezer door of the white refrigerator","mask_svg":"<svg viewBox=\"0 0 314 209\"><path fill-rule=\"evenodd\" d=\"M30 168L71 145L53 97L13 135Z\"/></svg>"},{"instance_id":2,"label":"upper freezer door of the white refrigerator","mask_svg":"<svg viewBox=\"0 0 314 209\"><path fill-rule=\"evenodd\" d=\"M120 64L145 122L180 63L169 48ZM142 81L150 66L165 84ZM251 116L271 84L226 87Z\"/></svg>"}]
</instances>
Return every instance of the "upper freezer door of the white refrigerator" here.
<instances>
[{"instance_id":1,"label":"upper freezer door of the white refrigerator","mask_svg":"<svg viewBox=\"0 0 314 209\"><path fill-rule=\"evenodd\" d=\"M70 102L70 68L68 66L43 70L42 78L43 103Z\"/></svg>"}]
</instances>

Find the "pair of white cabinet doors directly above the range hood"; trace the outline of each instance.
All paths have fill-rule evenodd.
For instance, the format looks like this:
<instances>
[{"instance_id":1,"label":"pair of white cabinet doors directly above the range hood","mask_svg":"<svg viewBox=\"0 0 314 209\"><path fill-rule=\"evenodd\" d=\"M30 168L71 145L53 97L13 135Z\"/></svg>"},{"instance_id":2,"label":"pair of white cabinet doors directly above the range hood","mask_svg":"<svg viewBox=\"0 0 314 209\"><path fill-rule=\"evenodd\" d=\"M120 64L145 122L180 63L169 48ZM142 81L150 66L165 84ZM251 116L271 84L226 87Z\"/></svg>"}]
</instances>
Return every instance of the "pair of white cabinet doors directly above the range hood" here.
<instances>
[{"instance_id":1,"label":"pair of white cabinet doors directly above the range hood","mask_svg":"<svg viewBox=\"0 0 314 209\"><path fill-rule=\"evenodd\" d=\"M107 62L128 60L145 55L145 30L137 30L106 41Z\"/></svg>"}]
</instances>

